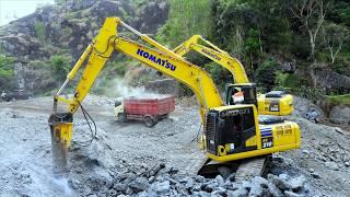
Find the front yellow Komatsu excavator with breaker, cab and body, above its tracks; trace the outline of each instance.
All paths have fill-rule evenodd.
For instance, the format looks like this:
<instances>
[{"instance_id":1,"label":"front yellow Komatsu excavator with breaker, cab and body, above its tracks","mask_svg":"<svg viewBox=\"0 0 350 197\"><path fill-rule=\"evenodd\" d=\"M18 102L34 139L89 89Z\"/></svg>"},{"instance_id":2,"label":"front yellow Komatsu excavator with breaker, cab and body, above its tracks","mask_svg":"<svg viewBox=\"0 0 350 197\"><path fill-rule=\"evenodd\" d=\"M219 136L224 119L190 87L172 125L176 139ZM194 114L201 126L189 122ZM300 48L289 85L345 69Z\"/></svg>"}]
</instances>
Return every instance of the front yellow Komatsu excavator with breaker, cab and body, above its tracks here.
<instances>
[{"instance_id":1,"label":"front yellow Komatsu excavator with breaker, cab and body, above its tracks","mask_svg":"<svg viewBox=\"0 0 350 197\"><path fill-rule=\"evenodd\" d=\"M124 27L139 36L148 45L121 37L118 28ZM171 49L136 31L119 18L107 18L98 35L88 46L74 65L67 80L54 96L54 112L48 119L52 140L54 170L65 171L68 149L72 140L73 114L81 107L89 116L82 102L105 62L119 51L143 62L187 85L196 94L203 123L206 154L218 162L253 158L285 151L300 147L301 136L298 124L281 121L259 125L254 104L226 105L210 76L200 67L186 61ZM71 99L60 94L83 69ZM59 103L69 105L68 112L58 112ZM91 126L89 124L89 126Z\"/></svg>"}]
</instances>

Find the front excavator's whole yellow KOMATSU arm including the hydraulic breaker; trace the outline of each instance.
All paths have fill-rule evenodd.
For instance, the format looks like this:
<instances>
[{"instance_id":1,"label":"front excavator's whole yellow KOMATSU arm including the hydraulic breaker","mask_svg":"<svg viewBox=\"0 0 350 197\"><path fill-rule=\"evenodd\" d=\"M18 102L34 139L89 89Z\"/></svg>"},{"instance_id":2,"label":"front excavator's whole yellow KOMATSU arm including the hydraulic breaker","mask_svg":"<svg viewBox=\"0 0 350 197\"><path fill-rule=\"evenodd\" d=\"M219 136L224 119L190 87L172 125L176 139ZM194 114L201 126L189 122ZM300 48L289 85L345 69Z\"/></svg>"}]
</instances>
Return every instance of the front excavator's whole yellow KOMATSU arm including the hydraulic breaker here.
<instances>
[{"instance_id":1,"label":"front excavator's whole yellow KOMATSU arm including the hydraulic breaker","mask_svg":"<svg viewBox=\"0 0 350 197\"><path fill-rule=\"evenodd\" d=\"M119 26L124 26L136 33L154 48L118 36ZM98 35L86 47L83 55L67 76L65 83L54 96L54 113L50 115L49 126L52 137L52 153L55 154L54 164L56 163L55 167L57 167L57 172L63 171L61 166L65 167L67 163L67 149L72 139L73 114L81 106L102 68L114 51L120 51L139 60L190 88L200 104L202 121L209 108L224 105L212 79L202 68L186 61L147 35L128 26L118 18L107 18ZM73 96L69 100L62 97L60 94L65 86L77 77L78 71L83 68L84 62L86 63ZM57 112L58 102L69 104L67 113Z\"/></svg>"}]
</instances>

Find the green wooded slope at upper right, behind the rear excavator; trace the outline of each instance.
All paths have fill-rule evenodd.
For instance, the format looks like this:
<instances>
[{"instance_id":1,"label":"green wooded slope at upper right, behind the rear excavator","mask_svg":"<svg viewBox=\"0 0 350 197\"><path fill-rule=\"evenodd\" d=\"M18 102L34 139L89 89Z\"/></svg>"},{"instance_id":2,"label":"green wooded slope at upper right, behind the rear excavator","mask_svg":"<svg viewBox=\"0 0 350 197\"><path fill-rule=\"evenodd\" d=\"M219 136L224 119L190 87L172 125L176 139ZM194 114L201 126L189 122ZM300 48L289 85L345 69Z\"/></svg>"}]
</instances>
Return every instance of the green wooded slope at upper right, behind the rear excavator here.
<instances>
[{"instance_id":1,"label":"green wooded slope at upper right, behind the rear excavator","mask_svg":"<svg viewBox=\"0 0 350 197\"><path fill-rule=\"evenodd\" d=\"M158 37L172 47L201 34L238 58L260 88L289 88L311 97L317 97L317 92L341 94L350 90L340 80L331 81L339 73L347 79L345 83L350 83L348 1L171 0L170 3L170 19ZM228 71L208 59L192 54L188 58L209 70L221 88L232 80ZM319 79L319 71L325 70L331 76ZM328 78L326 84L319 82Z\"/></svg>"}]
</instances>

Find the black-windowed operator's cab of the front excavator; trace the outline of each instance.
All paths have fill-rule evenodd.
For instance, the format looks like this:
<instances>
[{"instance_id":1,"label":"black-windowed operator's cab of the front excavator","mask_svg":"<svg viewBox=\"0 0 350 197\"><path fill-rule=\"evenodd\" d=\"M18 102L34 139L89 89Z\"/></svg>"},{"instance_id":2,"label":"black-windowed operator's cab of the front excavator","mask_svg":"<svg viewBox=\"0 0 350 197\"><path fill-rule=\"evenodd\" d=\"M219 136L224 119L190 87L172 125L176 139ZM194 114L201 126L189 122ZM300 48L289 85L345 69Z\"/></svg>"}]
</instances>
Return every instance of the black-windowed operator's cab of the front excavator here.
<instances>
[{"instance_id":1,"label":"black-windowed operator's cab of the front excavator","mask_svg":"<svg viewBox=\"0 0 350 197\"><path fill-rule=\"evenodd\" d=\"M256 143L245 143L256 136L254 108L237 105L232 109L210 111L206 121L208 152L226 155L256 150Z\"/></svg>"}]
</instances>

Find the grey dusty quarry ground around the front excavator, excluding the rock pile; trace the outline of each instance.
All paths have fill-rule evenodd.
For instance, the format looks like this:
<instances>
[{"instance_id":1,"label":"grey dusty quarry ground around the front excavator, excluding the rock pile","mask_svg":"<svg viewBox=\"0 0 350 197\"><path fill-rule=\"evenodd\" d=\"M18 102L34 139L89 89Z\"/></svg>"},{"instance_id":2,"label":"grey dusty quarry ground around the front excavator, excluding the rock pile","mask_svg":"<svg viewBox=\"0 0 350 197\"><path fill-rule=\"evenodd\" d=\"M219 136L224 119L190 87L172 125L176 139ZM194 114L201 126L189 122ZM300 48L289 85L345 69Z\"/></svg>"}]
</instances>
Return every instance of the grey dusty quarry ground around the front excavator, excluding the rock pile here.
<instances>
[{"instance_id":1,"label":"grey dusty quarry ground around the front excavator, excluding the rock pile","mask_svg":"<svg viewBox=\"0 0 350 197\"><path fill-rule=\"evenodd\" d=\"M0 196L108 196L121 176L159 163L186 174L203 159L196 143L201 127L196 107L177 105L170 118L148 128L138 121L117 123L112 99L91 95L83 105L96 121L96 140L89 147L74 143L90 138L78 113L70 175L56 179L47 125L51 99L0 103ZM311 188L306 196L350 196L350 132L299 116L288 118L302 129L302 148L276 153L270 172L303 175Z\"/></svg>"}]
</instances>

